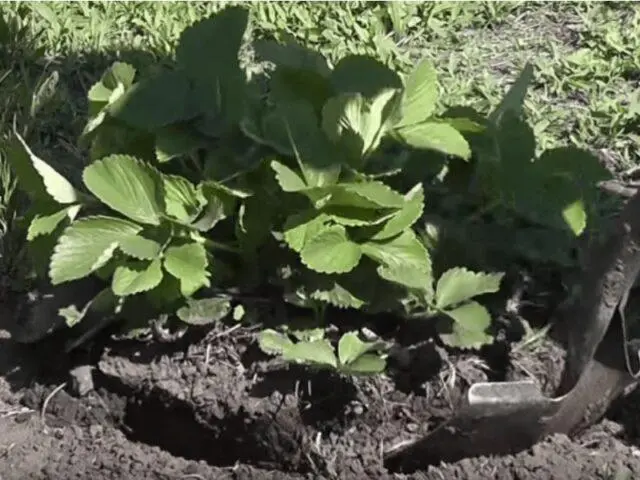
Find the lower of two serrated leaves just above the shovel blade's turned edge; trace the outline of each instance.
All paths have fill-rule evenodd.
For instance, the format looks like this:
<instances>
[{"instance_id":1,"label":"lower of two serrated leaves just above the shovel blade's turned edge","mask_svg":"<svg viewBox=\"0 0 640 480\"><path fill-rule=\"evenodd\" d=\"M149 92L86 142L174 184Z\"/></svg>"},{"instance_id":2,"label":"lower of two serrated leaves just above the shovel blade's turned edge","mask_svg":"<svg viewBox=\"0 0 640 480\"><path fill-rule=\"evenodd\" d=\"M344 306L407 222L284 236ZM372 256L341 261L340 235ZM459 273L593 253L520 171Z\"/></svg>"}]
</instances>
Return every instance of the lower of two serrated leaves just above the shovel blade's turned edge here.
<instances>
[{"instance_id":1,"label":"lower of two serrated leaves just above the shovel blade's turned edge","mask_svg":"<svg viewBox=\"0 0 640 480\"><path fill-rule=\"evenodd\" d=\"M479 303L468 302L444 313L453 320L447 329L442 323L439 325L440 338L446 345L476 349L493 342L493 337L486 333L491 324L491 315Z\"/></svg>"}]
</instances>

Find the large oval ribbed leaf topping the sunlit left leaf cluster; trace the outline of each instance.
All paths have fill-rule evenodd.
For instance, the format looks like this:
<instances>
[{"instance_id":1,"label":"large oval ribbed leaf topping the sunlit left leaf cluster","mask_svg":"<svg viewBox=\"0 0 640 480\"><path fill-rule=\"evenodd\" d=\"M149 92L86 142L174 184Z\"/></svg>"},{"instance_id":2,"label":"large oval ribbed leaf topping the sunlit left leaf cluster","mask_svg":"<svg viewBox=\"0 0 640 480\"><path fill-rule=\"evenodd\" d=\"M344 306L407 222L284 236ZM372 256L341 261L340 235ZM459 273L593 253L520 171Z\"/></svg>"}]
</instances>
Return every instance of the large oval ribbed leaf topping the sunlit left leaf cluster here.
<instances>
[{"instance_id":1,"label":"large oval ribbed leaf topping the sunlit left leaf cluster","mask_svg":"<svg viewBox=\"0 0 640 480\"><path fill-rule=\"evenodd\" d=\"M162 179L149 165L111 155L84 169L87 188L105 205L140 223L160 225L165 210Z\"/></svg>"}]
</instances>

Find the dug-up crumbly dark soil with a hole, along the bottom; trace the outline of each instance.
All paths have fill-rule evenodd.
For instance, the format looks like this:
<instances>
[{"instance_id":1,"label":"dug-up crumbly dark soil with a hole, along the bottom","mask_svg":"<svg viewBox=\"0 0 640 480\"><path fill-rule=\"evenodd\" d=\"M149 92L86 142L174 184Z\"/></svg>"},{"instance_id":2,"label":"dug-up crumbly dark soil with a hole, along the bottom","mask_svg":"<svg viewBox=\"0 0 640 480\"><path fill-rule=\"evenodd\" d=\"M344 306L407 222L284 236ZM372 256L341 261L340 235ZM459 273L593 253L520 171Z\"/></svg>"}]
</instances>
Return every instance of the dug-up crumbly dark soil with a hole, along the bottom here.
<instances>
[{"instance_id":1,"label":"dug-up crumbly dark soil with a hole, along the bottom","mask_svg":"<svg viewBox=\"0 0 640 480\"><path fill-rule=\"evenodd\" d=\"M531 376L553 385L561 350L552 344L506 352L511 362L502 363L510 367L500 371L490 356L445 355L425 343L396 375L351 380L281 365L252 339L251 331L221 326L170 344L107 344L92 360L95 390L76 398L56 387L71 384L68 372L82 355L61 354L55 339L21 346L4 335L0 479L640 475L633 395L579 438L555 436L515 455L435 462L410 475L385 468L383 451L448 419L471 383Z\"/></svg>"}]
</instances>

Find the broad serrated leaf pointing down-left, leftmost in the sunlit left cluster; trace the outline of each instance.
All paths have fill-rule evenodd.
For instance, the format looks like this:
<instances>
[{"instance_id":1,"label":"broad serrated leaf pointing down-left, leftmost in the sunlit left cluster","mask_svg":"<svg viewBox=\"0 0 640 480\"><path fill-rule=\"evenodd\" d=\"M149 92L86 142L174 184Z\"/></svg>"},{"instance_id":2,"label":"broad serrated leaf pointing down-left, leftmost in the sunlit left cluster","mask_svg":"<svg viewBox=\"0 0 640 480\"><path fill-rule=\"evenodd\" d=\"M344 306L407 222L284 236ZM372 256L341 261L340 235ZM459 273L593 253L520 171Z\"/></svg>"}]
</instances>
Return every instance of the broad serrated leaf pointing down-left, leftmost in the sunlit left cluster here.
<instances>
[{"instance_id":1,"label":"broad serrated leaf pointing down-left, leftmost in the sunlit left cluster","mask_svg":"<svg viewBox=\"0 0 640 480\"><path fill-rule=\"evenodd\" d=\"M136 235L142 227L104 216L77 220L60 236L49 266L53 285L86 277L105 265L119 242Z\"/></svg>"}]
</instances>

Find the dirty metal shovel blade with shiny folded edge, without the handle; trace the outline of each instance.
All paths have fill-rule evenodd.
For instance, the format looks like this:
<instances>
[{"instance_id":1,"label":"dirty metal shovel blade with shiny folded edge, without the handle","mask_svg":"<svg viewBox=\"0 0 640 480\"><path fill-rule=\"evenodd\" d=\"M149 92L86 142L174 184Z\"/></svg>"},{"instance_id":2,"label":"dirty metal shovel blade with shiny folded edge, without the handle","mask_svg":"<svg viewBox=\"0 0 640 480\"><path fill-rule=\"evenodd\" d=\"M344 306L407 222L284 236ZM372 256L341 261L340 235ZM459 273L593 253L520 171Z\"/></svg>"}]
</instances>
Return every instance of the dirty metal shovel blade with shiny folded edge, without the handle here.
<instances>
[{"instance_id":1,"label":"dirty metal shovel blade with shiny folded edge, without the handle","mask_svg":"<svg viewBox=\"0 0 640 480\"><path fill-rule=\"evenodd\" d=\"M624 368L622 332L613 330L566 395L546 397L533 381L476 383L451 420L387 450L386 467L410 472L441 461L512 454L549 434L572 433L597 420L636 382Z\"/></svg>"}]
</instances>

